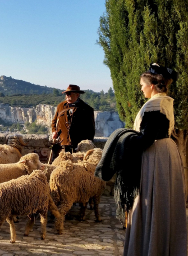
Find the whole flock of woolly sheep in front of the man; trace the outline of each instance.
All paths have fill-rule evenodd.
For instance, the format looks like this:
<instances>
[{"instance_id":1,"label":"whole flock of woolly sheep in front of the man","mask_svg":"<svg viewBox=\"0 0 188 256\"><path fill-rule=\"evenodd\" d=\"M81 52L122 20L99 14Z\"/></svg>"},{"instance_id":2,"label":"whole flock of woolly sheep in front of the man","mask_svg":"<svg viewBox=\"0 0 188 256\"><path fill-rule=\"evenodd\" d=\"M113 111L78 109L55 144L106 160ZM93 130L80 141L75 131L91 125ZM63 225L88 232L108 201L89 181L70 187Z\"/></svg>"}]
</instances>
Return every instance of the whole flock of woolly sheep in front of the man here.
<instances>
[{"instance_id":1,"label":"whole flock of woolly sheep in front of the man","mask_svg":"<svg viewBox=\"0 0 188 256\"><path fill-rule=\"evenodd\" d=\"M89 140L82 141L77 153L60 152L52 165L42 164L36 153L21 156L26 145L22 135L11 135L0 145L0 227L10 224L11 242L16 241L17 216L28 215L24 236L33 228L35 215L40 215L41 239L45 239L48 210L56 217L55 227L63 231L65 215L72 204L80 204L80 220L85 219L89 202L97 221L98 205L106 186L94 176L102 150Z\"/></svg>"}]
</instances>

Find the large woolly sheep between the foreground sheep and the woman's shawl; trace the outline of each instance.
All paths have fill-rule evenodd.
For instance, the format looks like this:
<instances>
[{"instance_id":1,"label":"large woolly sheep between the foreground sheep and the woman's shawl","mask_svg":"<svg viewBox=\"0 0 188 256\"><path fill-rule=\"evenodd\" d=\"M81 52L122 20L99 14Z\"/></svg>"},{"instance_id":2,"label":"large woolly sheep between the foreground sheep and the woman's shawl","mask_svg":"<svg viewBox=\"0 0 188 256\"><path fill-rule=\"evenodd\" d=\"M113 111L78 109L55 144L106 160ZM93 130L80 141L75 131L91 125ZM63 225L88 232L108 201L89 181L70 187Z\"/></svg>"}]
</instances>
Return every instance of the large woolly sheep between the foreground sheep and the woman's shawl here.
<instances>
[{"instance_id":1,"label":"large woolly sheep between the foreground sheep and the woman's shawl","mask_svg":"<svg viewBox=\"0 0 188 256\"><path fill-rule=\"evenodd\" d=\"M80 219L85 220L87 203L89 198L93 198L95 217L98 222L101 221L98 204L106 182L94 176L95 168L101 156L101 149L91 149L86 152L84 161L73 164L67 160L52 171L49 186L53 201L58 205L61 214L61 218L56 221L56 229L59 234L63 230L65 215L74 202L80 203Z\"/></svg>"}]
</instances>

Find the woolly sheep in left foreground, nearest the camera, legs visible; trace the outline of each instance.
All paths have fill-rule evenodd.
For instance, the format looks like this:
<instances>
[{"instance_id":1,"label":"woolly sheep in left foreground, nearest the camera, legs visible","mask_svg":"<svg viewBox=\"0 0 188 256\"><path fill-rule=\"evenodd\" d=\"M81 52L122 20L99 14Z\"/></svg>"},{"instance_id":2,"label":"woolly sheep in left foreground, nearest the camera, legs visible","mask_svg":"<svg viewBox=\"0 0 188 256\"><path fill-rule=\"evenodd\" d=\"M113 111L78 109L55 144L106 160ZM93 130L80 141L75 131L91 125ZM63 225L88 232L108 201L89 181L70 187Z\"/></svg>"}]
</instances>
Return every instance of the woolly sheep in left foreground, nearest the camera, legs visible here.
<instances>
[{"instance_id":1,"label":"woolly sheep in left foreground, nearest the camera, legs visible","mask_svg":"<svg viewBox=\"0 0 188 256\"><path fill-rule=\"evenodd\" d=\"M34 225L34 214L39 213L42 240L45 239L48 208L56 218L60 218L57 206L50 196L47 178L40 170L0 184L0 197L0 227L7 220L10 224L12 243L16 241L13 216L32 214L25 228L24 236L28 236Z\"/></svg>"}]
</instances>

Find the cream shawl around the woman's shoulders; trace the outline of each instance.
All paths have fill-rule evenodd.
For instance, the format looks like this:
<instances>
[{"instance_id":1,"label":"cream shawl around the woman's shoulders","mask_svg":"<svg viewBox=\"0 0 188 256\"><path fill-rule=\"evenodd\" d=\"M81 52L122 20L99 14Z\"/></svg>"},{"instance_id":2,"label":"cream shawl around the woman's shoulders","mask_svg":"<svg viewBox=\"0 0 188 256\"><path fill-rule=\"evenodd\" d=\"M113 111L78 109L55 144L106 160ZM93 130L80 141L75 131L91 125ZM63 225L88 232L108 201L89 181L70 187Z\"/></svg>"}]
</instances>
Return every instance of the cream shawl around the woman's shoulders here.
<instances>
[{"instance_id":1,"label":"cream shawl around the woman's shoulders","mask_svg":"<svg viewBox=\"0 0 188 256\"><path fill-rule=\"evenodd\" d=\"M137 113L134 123L134 130L140 131L140 124L143 120L144 112L149 111L160 111L161 113L166 115L167 119L169 120L168 135L170 137L175 126L175 117L173 114L173 99L171 97L168 97L165 93L155 94L143 105L139 113Z\"/></svg>"}]
</instances>

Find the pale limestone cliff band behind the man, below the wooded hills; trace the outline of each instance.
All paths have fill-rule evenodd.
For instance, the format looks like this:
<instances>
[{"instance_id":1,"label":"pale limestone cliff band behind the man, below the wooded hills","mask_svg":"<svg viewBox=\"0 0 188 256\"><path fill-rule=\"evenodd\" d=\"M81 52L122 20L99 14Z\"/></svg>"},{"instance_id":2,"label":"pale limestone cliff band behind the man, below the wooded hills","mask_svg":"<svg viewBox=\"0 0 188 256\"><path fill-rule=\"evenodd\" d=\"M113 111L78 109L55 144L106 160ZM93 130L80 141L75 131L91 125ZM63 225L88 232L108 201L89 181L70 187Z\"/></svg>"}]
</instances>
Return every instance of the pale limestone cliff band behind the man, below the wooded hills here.
<instances>
[{"instance_id":1,"label":"pale limestone cliff band behind the man, below the wooded hills","mask_svg":"<svg viewBox=\"0 0 188 256\"><path fill-rule=\"evenodd\" d=\"M11 107L8 104L0 104L0 118L7 122L32 123L37 120L38 124L49 127L56 113L57 107L51 105L37 105L36 108ZM108 137L118 128L125 127L125 123L120 120L118 113L107 111L94 111L95 116L95 136Z\"/></svg>"}]
</instances>

